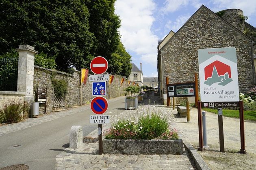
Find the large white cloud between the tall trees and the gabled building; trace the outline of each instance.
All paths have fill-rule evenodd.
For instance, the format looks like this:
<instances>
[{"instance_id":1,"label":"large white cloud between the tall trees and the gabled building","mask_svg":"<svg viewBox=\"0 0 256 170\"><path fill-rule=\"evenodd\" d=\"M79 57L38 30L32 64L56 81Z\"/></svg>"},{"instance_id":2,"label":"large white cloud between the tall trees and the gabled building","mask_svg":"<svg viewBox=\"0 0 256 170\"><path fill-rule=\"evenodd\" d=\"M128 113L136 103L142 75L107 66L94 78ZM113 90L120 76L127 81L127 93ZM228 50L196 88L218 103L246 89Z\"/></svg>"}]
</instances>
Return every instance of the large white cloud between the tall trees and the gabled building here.
<instances>
[{"instance_id":1,"label":"large white cloud between the tall trees and the gabled building","mask_svg":"<svg viewBox=\"0 0 256 170\"><path fill-rule=\"evenodd\" d=\"M121 18L121 41L127 51L141 56L143 63L156 66L158 36L151 31L156 4L153 0L117 0L115 13ZM132 60L138 60L132 57Z\"/></svg>"}]
</instances>

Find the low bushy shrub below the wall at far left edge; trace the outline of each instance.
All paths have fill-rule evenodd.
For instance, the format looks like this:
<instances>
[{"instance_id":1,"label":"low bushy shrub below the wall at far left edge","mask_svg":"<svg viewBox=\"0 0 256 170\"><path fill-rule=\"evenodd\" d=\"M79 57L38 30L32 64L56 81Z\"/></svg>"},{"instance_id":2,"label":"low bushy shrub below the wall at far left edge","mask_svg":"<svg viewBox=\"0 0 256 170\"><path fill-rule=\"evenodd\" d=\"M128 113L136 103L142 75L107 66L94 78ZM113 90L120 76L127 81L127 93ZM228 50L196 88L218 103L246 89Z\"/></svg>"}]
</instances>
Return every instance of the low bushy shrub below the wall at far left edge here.
<instances>
[{"instance_id":1,"label":"low bushy shrub below the wall at far left edge","mask_svg":"<svg viewBox=\"0 0 256 170\"><path fill-rule=\"evenodd\" d=\"M10 100L0 110L0 123L17 123L22 119L24 107L21 102Z\"/></svg>"}]
</instances>

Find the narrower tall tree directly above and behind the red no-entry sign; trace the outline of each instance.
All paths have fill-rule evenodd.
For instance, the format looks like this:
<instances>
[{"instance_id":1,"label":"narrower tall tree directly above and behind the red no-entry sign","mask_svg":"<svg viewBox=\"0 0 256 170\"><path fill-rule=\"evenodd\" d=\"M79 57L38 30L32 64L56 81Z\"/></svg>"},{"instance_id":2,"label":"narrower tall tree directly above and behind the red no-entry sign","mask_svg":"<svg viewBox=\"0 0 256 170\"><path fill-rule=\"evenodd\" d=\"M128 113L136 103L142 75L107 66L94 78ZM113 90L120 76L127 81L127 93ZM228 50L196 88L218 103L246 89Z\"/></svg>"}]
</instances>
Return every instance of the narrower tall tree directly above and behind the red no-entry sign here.
<instances>
[{"instance_id":1,"label":"narrower tall tree directly above and behind the red no-entry sign","mask_svg":"<svg viewBox=\"0 0 256 170\"><path fill-rule=\"evenodd\" d=\"M115 68L120 70L121 67L119 61L121 58L113 54L117 51L120 42L117 29L121 23L114 13L114 3L115 0L88 0L86 2L90 13L89 29L95 37L91 54L105 57L110 62L108 72L115 72Z\"/></svg>"}]
</instances>

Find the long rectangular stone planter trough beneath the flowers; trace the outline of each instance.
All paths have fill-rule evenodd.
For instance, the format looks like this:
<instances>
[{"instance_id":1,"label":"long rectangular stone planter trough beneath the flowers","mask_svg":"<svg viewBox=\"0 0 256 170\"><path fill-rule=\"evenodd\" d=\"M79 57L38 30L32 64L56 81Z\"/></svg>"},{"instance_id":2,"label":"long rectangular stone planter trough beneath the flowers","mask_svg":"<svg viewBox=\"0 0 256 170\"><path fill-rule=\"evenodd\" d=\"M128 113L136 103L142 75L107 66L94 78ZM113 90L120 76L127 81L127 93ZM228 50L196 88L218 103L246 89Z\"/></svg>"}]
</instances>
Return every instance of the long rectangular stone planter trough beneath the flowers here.
<instances>
[{"instance_id":1,"label":"long rectangular stone planter trough beneath the flowers","mask_svg":"<svg viewBox=\"0 0 256 170\"><path fill-rule=\"evenodd\" d=\"M104 139L103 153L105 154L128 154L128 155L151 155L183 153L182 139L177 140L123 140Z\"/></svg>"}]
</instances>

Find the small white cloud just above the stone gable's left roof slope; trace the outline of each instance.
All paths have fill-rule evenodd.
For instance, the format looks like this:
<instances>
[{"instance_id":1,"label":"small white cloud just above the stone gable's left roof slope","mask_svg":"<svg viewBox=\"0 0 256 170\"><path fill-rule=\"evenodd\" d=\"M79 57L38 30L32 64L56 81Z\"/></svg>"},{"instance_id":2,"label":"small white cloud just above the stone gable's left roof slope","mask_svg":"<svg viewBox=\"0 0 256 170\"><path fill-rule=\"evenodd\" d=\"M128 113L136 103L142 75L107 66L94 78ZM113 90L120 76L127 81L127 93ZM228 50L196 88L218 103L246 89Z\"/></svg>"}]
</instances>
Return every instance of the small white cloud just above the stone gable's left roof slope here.
<instances>
[{"instance_id":1,"label":"small white cloud just above the stone gable's left roof slope","mask_svg":"<svg viewBox=\"0 0 256 170\"><path fill-rule=\"evenodd\" d=\"M173 30L174 32L177 32L185 22L187 22L187 20L190 18L190 15L183 15L183 16L179 16L177 17L176 21L172 22L172 21L168 21L165 24L165 29L169 28L169 32L171 30Z\"/></svg>"}]
</instances>

